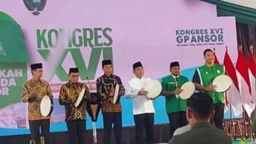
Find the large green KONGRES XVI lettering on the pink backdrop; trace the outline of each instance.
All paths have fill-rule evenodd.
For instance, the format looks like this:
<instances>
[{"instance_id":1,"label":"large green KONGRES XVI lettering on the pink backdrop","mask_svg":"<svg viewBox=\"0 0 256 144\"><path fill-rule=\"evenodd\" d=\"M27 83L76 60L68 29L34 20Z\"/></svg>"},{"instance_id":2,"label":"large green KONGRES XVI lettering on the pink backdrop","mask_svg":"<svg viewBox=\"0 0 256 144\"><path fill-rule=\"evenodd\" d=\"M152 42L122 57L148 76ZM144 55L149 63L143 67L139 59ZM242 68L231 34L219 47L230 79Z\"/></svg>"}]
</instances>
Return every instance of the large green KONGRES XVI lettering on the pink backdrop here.
<instances>
[{"instance_id":1,"label":"large green KONGRES XVI lettering on the pink backdrop","mask_svg":"<svg viewBox=\"0 0 256 144\"><path fill-rule=\"evenodd\" d=\"M37 51L47 61L51 56L51 49L56 48L57 45L67 45L67 48L61 49L64 52L57 61L53 75L56 75L61 81L68 80L67 69L63 68L63 62L67 54L70 53L73 63L79 68L81 79L86 80L88 77L93 80L100 56L103 55L104 60L113 59L111 30L111 28L76 28L67 34L64 29L37 29ZM67 35L69 39L63 41L61 37L67 37ZM84 60L82 49L91 49L88 61Z\"/></svg>"}]
</instances>

